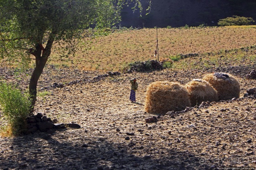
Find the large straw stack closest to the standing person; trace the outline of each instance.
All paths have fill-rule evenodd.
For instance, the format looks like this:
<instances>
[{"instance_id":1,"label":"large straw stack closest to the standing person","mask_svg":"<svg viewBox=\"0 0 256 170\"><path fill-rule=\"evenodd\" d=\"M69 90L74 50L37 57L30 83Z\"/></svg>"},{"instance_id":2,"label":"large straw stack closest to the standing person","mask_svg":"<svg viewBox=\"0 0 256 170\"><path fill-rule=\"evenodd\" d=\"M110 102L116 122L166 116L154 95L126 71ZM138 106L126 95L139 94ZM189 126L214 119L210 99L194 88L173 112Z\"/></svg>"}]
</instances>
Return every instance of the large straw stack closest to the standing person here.
<instances>
[{"instance_id":1,"label":"large straw stack closest to the standing person","mask_svg":"<svg viewBox=\"0 0 256 170\"><path fill-rule=\"evenodd\" d=\"M165 114L169 111L181 111L190 106L188 92L177 82L153 82L146 92L145 111Z\"/></svg>"}]
</instances>

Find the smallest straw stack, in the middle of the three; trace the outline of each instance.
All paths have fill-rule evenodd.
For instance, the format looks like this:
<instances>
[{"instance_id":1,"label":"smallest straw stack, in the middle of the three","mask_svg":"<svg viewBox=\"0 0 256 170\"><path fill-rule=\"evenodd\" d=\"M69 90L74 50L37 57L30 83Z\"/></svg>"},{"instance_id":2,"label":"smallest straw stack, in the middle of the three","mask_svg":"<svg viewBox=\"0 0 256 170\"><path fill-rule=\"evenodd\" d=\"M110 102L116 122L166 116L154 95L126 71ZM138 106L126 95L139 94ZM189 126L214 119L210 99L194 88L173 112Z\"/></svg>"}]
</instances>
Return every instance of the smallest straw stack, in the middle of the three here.
<instances>
[{"instance_id":1,"label":"smallest straw stack, in the middle of the three","mask_svg":"<svg viewBox=\"0 0 256 170\"><path fill-rule=\"evenodd\" d=\"M189 93L191 106L200 105L203 101L218 101L217 91L205 80L194 79L185 87Z\"/></svg>"}]
</instances>

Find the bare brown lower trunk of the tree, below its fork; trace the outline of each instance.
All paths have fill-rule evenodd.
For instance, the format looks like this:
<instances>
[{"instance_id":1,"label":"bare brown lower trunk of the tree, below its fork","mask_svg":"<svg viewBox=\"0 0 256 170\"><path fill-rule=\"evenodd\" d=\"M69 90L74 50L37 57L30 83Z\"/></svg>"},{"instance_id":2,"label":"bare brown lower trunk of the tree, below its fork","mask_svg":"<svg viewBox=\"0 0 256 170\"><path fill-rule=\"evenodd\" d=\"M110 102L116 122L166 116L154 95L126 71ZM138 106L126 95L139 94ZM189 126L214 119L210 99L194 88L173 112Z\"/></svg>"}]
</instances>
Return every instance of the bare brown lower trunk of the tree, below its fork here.
<instances>
[{"instance_id":1,"label":"bare brown lower trunk of the tree, below its fork","mask_svg":"<svg viewBox=\"0 0 256 170\"><path fill-rule=\"evenodd\" d=\"M32 101L30 113L34 112L34 106L36 104L37 82L43 72L43 68L47 62L47 59L48 58L36 57L36 67L31 76L30 83L29 83L30 99Z\"/></svg>"}]
</instances>

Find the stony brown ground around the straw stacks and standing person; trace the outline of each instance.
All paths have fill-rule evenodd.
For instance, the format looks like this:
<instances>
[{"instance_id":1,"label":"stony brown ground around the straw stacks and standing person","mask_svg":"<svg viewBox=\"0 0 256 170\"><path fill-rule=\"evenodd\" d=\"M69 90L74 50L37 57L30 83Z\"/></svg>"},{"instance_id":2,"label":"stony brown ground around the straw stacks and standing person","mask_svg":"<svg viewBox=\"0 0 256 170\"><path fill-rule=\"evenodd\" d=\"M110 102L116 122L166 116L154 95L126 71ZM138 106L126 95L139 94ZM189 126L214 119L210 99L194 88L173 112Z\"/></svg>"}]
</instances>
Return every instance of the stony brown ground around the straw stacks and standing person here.
<instances>
[{"instance_id":1,"label":"stony brown ground around the straw stacks and standing person","mask_svg":"<svg viewBox=\"0 0 256 170\"><path fill-rule=\"evenodd\" d=\"M222 169L256 166L256 99L243 97L256 80L243 76L255 65L212 70L162 70L98 76L98 71L47 66L40 79L36 111L80 129L57 129L0 138L0 169ZM30 74L32 70L28 70ZM145 92L154 81L185 84L213 71L229 71L241 83L240 98L146 123ZM17 73L16 73L17 72ZM28 86L29 77L0 69L3 80ZM100 78L94 78L94 77ZM129 101L129 80L137 78L137 103ZM54 83L63 87L51 87ZM71 83L70 83L71 82ZM75 82L75 83L74 83ZM1 122L2 123L2 122Z\"/></svg>"}]
</instances>

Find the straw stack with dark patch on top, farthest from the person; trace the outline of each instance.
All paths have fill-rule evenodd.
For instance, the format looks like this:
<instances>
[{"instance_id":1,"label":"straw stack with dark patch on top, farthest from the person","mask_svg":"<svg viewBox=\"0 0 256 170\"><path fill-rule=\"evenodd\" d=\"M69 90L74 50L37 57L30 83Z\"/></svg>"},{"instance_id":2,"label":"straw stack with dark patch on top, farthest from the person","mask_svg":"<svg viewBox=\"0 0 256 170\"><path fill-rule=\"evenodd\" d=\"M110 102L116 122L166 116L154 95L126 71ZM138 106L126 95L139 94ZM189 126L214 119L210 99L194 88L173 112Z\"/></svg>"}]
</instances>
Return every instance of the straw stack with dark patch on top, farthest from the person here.
<instances>
[{"instance_id":1,"label":"straw stack with dark patch on top, farthest from the person","mask_svg":"<svg viewBox=\"0 0 256 170\"><path fill-rule=\"evenodd\" d=\"M239 98L240 83L231 74L207 74L203 77L203 80L209 82L217 90L219 100L231 100L234 97Z\"/></svg>"}]
</instances>

